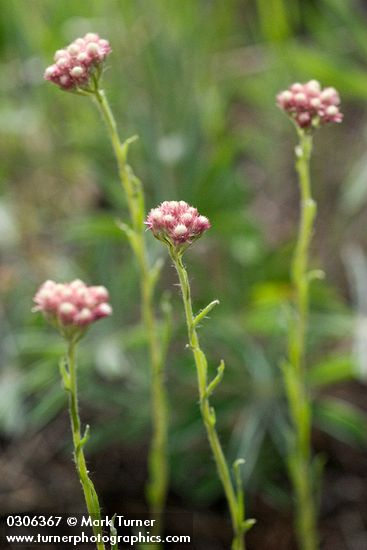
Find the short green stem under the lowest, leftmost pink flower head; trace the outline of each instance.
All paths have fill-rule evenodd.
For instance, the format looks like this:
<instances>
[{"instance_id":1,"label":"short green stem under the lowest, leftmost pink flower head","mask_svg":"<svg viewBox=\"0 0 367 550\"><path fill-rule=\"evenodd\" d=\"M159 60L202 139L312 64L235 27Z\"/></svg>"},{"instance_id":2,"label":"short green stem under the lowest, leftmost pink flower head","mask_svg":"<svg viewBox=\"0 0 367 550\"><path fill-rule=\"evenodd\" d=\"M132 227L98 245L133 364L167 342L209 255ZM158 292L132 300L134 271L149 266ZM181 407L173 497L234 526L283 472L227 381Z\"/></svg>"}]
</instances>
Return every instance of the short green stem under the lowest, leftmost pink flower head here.
<instances>
[{"instance_id":1,"label":"short green stem under the lowest, leftmost pink flower head","mask_svg":"<svg viewBox=\"0 0 367 550\"><path fill-rule=\"evenodd\" d=\"M68 370L64 375L65 388L69 393L69 413L71 421L71 430L73 434L74 460L78 472L79 480L83 488L84 498L87 505L88 514L92 519L98 520L98 525L93 526L93 533L101 542L96 543L97 550L105 550L102 542L103 530L101 527L101 509L98 496L93 482L89 477L87 465L84 456L84 444L86 440L81 436L79 409L78 409L78 387L75 362L75 342L69 341L67 351ZM84 436L86 437L86 436Z\"/></svg>"}]
</instances>

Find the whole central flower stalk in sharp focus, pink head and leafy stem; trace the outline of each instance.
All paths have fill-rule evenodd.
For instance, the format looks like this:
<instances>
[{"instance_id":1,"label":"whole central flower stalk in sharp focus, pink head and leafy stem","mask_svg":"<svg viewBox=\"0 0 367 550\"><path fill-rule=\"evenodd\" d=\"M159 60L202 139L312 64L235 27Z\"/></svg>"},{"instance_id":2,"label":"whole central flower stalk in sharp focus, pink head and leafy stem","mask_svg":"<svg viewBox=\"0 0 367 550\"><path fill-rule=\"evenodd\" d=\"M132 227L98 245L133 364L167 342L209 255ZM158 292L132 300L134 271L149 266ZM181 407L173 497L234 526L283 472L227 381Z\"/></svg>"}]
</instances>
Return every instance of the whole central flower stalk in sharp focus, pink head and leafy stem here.
<instances>
[{"instance_id":1,"label":"whole central flower stalk in sharp focus, pink head and leafy stem","mask_svg":"<svg viewBox=\"0 0 367 550\"><path fill-rule=\"evenodd\" d=\"M185 201L164 201L157 208L153 208L149 212L145 224L151 230L154 237L167 246L178 274L185 309L189 345L194 356L197 372L200 412L232 521L234 536L231 548L232 550L245 550L244 535L252 527L254 520L245 520L245 504L240 473L240 465L243 463L243 460L236 460L233 465L235 477L235 482L233 483L215 427L215 411L210 404L210 396L223 378L224 362L221 361L216 376L209 382L208 362L200 347L196 330L198 323L219 302L218 300L214 300L194 316L189 278L182 262L184 252L210 228L210 222L207 217L200 215L196 208L190 206Z\"/></svg>"}]
</instances>

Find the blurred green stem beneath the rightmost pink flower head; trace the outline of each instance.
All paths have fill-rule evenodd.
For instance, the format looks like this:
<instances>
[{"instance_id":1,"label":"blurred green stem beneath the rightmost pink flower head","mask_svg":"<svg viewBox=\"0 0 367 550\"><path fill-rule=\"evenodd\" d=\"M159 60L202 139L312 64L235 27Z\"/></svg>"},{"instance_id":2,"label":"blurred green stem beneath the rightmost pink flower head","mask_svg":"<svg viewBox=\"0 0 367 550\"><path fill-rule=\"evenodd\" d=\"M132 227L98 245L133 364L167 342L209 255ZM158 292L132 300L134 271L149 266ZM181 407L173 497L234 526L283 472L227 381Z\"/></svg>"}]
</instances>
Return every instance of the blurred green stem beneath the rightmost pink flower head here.
<instances>
[{"instance_id":1,"label":"blurred green stem beneath the rightmost pink flower head","mask_svg":"<svg viewBox=\"0 0 367 550\"><path fill-rule=\"evenodd\" d=\"M309 317L308 273L316 203L311 196L310 158L312 135L299 130L296 169L299 177L301 218L291 277L295 294L296 318L289 329L289 366L286 384L294 427L293 449L289 455L290 475L296 498L296 528L302 550L318 548L317 519L311 464L311 399L305 380L305 338Z\"/></svg>"}]
</instances>

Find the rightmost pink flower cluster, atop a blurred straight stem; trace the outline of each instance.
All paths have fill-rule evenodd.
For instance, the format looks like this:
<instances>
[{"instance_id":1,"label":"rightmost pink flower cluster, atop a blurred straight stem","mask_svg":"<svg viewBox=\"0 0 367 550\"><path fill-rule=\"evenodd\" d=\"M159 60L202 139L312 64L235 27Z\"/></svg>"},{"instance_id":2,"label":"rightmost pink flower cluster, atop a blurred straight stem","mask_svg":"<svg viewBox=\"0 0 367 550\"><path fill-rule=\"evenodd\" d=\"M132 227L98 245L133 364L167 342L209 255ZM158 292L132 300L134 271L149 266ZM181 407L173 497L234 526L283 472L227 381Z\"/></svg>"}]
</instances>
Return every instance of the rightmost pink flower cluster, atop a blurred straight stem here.
<instances>
[{"instance_id":1,"label":"rightmost pink flower cluster, atop a blurred straight stem","mask_svg":"<svg viewBox=\"0 0 367 550\"><path fill-rule=\"evenodd\" d=\"M277 104L300 128L343 120L338 92L331 87L322 89L317 80L292 84L277 95Z\"/></svg>"}]
</instances>

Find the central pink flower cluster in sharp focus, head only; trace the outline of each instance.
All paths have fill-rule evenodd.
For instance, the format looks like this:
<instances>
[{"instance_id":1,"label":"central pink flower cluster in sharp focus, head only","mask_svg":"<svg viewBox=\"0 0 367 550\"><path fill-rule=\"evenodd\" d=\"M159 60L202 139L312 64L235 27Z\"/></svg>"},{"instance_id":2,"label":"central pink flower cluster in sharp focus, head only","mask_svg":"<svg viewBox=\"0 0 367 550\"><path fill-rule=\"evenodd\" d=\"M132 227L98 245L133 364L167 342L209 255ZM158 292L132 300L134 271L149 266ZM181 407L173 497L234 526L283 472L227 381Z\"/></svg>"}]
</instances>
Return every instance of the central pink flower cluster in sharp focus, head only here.
<instances>
[{"instance_id":1,"label":"central pink flower cluster in sharp focus, head only","mask_svg":"<svg viewBox=\"0 0 367 550\"><path fill-rule=\"evenodd\" d=\"M157 239L175 246L191 244L210 228L208 218L185 201L162 202L149 212L145 223Z\"/></svg>"}]
</instances>

